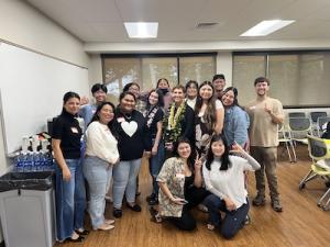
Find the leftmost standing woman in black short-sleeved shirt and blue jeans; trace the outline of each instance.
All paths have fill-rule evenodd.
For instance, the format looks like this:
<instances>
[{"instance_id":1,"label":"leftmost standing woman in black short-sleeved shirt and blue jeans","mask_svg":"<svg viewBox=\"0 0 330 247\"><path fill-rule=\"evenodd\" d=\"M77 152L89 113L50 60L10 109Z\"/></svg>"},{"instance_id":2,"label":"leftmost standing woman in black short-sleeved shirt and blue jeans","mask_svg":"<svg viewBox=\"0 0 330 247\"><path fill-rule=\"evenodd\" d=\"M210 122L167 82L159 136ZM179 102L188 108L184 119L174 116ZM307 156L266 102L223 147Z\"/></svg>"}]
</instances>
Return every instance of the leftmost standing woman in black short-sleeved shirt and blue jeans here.
<instances>
[{"instance_id":1,"label":"leftmost standing woman in black short-sleeved shirt and blue jeans","mask_svg":"<svg viewBox=\"0 0 330 247\"><path fill-rule=\"evenodd\" d=\"M79 108L79 94L66 92L63 97L62 113L53 125L56 233L61 243L82 242L84 236L89 233L84 228L86 194L82 166L79 161L82 131L76 119Z\"/></svg>"}]
</instances>

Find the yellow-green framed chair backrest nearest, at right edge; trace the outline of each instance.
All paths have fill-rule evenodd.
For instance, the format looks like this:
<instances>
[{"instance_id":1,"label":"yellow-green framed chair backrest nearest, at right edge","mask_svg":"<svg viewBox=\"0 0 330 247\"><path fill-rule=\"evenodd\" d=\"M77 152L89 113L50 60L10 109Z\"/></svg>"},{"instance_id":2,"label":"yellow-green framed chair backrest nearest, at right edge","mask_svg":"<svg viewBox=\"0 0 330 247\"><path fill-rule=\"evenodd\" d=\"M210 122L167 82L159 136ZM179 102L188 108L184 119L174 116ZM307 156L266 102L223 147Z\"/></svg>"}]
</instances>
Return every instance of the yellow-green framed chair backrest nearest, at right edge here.
<instances>
[{"instance_id":1,"label":"yellow-green framed chair backrest nearest, at right edge","mask_svg":"<svg viewBox=\"0 0 330 247\"><path fill-rule=\"evenodd\" d=\"M307 135L309 156L315 160L330 158L330 139Z\"/></svg>"}]
</instances>

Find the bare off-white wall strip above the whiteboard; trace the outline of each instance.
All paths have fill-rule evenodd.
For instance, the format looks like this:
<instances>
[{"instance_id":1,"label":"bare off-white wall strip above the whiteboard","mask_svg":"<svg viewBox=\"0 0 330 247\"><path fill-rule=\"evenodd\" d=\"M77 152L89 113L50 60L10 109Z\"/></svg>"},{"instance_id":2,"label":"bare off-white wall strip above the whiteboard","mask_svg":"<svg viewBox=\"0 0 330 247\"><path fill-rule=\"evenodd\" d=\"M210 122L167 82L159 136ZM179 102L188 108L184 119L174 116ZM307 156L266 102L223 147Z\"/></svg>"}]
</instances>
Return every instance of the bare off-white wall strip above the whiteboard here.
<instances>
[{"instance_id":1,"label":"bare off-white wall strip above the whiteboard","mask_svg":"<svg viewBox=\"0 0 330 247\"><path fill-rule=\"evenodd\" d=\"M0 0L0 40L88 67L84 44L24 1Z\"/></svg>"}]
</instances>

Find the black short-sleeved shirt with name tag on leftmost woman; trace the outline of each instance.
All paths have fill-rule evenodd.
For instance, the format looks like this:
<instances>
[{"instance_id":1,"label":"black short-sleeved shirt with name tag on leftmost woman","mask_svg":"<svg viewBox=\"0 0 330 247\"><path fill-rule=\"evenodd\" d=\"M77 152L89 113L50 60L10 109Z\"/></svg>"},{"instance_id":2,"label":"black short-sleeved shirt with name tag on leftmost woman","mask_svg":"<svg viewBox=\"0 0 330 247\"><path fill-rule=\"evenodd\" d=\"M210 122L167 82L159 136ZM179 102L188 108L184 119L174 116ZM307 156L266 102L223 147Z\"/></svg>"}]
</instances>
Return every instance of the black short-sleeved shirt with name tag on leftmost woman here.
<instances>
[{"instance_id":1,"label":"black short-sleeved shirt with name tag on leftmost woman","mask_svg":"<svg viewBox=\"0 0 330 247\"><path fill-rule=\"evenodd\" d=\"M75 115L63 110L53 124L53 138L61 139L61 150L65 159L80 158L81 128Z\"/></svg>"}]
</instances>

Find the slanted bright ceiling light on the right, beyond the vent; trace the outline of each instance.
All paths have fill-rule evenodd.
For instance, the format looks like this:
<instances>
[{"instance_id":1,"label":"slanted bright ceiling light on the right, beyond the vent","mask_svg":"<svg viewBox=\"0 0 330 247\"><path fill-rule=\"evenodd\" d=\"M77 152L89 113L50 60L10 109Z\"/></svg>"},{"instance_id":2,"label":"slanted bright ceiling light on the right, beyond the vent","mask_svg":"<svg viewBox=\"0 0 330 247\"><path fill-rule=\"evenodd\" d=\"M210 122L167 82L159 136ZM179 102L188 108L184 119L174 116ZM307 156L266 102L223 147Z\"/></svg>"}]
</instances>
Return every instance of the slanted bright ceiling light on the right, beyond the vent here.
<instances>
[{"instance_id":1,"label":"slanted bright ceiling light on the right, beyond the vent","mask_svg":"<svg viewBox=\"0 0 330 247\"><path fill-rule=\"evenodd\" d=\"M245 33L241 34L240 36L266 36L277 30L283 29L292 23L295 20L270 20L270 21L262 21L257 23L255 26L248 30Z\"/></svg>"}]
</instances>

